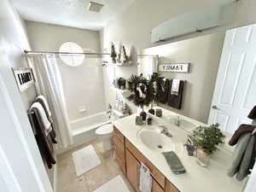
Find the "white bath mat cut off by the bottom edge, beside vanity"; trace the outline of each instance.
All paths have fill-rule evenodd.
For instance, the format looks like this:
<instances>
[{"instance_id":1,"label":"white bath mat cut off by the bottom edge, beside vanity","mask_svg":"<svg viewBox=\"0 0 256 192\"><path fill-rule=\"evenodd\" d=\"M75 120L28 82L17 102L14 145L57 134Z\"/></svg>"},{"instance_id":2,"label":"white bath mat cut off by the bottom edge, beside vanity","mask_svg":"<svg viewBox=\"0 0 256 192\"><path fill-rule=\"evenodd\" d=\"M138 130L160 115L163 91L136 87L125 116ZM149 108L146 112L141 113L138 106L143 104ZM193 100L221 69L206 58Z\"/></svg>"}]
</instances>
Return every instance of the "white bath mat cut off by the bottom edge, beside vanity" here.
<instances>
[{"instance_id":1,"label":"white bath mat cut off by the bottom edge, beside vanity","mask_svg":"<svg viewBox=\"0 0 256 192\"><path fill-rule=\"evenodd\" d=\"M93 192L130 192L121 176L114 177L108 183Z\"/></svg>"}]
</instances>

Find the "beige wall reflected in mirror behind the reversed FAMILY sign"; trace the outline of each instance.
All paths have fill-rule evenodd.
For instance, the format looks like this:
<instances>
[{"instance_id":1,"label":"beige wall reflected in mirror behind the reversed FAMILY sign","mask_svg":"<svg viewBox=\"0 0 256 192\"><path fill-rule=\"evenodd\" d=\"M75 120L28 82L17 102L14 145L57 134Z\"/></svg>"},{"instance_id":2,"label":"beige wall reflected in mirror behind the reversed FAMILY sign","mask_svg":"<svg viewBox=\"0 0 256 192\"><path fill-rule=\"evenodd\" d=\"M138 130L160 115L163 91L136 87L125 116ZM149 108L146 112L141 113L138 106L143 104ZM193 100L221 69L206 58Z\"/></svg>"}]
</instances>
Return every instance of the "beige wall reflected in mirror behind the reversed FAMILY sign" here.
<instances>
[{"instance_id":1,"label":"beige wall reflected in mirror behind the reversed FAMILY sign","mask_svg":"<svg viewBox=\"0 0 256 192\"><path fill-rule=\"evenodd\" d=\"M145 54L159 55L160 63L191 63L190 73L160 73L168 79L187 80L183 92L182 109L177 110L168 105L160 105L161 107L207 123L224 44L224 34L224 32L218 32L145 49Z\"/></svg>"}]
</instances>

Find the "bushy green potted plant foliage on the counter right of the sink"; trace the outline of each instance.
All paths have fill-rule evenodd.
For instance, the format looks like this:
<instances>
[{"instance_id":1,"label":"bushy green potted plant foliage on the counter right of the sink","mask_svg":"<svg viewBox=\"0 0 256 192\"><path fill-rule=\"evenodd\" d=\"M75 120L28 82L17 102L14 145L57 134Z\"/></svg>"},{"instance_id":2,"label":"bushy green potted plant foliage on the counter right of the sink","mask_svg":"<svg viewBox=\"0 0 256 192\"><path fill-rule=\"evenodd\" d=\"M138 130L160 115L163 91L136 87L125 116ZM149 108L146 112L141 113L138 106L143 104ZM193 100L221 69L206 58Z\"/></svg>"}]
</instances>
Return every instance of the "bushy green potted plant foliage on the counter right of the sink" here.
<instances>
[{"instance_id":1,"label":"bushy green potted plant foliage on the counter right of the sink","mask_svg":"<svg viewBox=\"0 0 256 192\"><path fill-rule=\"evenodd\" d=\"M224 134L218 129L219 124L209 127L200 126L193 131L193 142L197 148L202 148L207 154L218 150L217 145L224 143Z\"/></svg>"}]
</instances>

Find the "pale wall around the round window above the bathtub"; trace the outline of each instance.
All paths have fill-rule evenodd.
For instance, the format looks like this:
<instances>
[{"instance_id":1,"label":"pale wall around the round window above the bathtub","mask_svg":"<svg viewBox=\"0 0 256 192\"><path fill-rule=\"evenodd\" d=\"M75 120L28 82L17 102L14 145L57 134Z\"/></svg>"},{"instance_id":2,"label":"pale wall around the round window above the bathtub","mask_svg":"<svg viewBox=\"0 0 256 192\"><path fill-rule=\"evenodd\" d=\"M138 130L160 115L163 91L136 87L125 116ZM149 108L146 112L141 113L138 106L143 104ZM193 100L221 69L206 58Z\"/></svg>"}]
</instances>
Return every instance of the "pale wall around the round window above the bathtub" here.
<instances>
[{"instance_id":1,"label":"pale wall around the round window above the bathtub","mask_svg":"<svg viewBox=\"0 0 256 192\"><path fill-rule=\"evenodd\" d=\"M26 26L33 50L58 51L61 44L71 41L88 51L100 51L99 32L33 21L26 21ZM57 58L57 61L64 85L69 120L104 111L101 58L87 56L79 67L67 66L60 58ZM85 108L86 111L79 113L80 108Z\"/></svg>"}]
</instances>

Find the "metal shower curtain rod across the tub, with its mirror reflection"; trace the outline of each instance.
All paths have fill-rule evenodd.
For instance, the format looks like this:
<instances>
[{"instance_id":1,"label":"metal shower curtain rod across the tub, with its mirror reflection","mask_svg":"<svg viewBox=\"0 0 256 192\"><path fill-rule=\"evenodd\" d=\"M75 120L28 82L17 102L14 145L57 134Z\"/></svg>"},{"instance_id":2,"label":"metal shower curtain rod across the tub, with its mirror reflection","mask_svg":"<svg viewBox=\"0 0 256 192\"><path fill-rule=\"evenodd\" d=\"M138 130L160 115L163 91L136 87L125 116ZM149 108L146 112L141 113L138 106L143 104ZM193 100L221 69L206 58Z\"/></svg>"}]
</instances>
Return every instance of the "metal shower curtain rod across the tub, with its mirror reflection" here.
<instances>
[{"instance_id":1,"label":"metal shower curtain rod across the tub, with its mirror reflection","mask_svg":"<svg viewBox=\"0 0 256 192\"><path fill-rule=\"evenodd\" d=\"M41 51L41 50L24 50L25 54L67 54L67 55L111 55L109 53L89 53L89 52L83 52L83 53L75 53L75 52L59 52L59 51ZM137 55L137 56L153 56L158 57L158 55Z\"/></svg>"}]
</instances>

